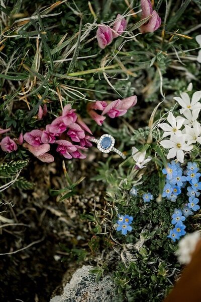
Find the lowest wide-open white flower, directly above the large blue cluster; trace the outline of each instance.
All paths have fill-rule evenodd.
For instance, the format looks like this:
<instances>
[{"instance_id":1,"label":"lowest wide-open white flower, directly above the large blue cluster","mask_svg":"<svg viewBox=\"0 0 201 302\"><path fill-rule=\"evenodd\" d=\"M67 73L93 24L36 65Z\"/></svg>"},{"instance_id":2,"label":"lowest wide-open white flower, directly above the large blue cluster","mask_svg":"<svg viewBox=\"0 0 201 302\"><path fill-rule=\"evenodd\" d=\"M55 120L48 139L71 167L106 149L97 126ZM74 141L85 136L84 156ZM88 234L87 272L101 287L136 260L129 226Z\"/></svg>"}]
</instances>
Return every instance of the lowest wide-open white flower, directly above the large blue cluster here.
<instances>
[{"instance_id":1,"label":"lowest wide-open white flower, directly above the large blue cluster","mask_svg":"<svg viewBox=\"0 0 201 302\"><path fill-rule=\"evenodd\" d=\"M161 146L165 149L170 149L167 154L167 159L176 158L179 162L183 162L184 151L192 150L192 146L185 144L185 134L184 135L172 135L169 140L164 140L160 142Z\"/></svg>"}]
</instances>

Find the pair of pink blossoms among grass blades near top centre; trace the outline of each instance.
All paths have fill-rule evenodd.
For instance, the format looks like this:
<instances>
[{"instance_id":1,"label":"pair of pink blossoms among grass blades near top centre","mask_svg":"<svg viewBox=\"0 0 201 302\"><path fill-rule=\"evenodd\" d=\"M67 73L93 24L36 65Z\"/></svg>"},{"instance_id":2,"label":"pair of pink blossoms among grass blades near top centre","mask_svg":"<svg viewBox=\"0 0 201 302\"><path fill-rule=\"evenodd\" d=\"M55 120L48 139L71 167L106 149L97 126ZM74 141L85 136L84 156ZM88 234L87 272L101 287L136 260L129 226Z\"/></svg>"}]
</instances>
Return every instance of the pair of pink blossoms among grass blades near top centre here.
<instances>
[{"instance_id":1,"label":"pair of pink blossoms among grass blades near top centre","mask_svg":"<svg viewBox=\"0 0 201 302\"><path fill-rule=\"evenodd\" d=\"M100 48L104 49L114 38L119 37L127 27L127 21L122 15L118 14L116 21L111 28L108 25L98 25L96 31L97 42Z\"/></svg>"}]
</instances>

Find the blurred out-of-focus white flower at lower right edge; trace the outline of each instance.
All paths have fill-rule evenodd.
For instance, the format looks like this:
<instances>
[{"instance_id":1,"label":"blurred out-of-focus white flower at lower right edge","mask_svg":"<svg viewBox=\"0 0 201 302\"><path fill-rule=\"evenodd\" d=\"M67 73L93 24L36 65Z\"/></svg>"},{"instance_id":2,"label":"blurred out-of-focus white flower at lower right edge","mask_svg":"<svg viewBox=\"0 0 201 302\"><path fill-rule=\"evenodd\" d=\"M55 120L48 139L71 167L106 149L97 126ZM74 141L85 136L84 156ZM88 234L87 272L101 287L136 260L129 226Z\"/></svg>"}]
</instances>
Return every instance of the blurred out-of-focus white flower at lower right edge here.
<instances>
[{"instance_id":1,"label":"blurred out-of-focus white flower at lower right edge","mask_svg":"<svg viewBox=\"0 0 201 302\"><path fill-rule=\"evenodd\" d=\"M200 233L194 232L185 235L181 240L179 240L176 255L178 256L178 261L181 264L188 264L190 262L192 253L194 252L200 238Z\"/></svg>"}]
</instances>

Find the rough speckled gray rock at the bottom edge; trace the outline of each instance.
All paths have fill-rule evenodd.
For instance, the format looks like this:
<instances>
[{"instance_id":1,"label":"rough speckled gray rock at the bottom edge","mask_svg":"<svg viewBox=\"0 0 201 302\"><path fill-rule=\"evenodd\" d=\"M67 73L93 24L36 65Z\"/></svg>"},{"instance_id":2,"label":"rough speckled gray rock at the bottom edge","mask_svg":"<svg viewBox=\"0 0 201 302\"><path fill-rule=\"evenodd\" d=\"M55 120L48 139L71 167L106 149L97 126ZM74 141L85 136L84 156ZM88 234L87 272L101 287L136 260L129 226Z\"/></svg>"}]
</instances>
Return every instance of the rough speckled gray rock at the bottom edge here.
<instances>
[{"instance_id":1,"label":"rough speckled gray rock at the bottom edge","mask_svg":"<svg viewBox=\"0 0 201 302\"><path fill-rule=\"evenodd\" d=\"M50 302L112 302L116 285L110 276L96 282L95 274L90 274L93 267L84 265L76 270L63 294L53 297Z\"/></svg>"}]
</instances>

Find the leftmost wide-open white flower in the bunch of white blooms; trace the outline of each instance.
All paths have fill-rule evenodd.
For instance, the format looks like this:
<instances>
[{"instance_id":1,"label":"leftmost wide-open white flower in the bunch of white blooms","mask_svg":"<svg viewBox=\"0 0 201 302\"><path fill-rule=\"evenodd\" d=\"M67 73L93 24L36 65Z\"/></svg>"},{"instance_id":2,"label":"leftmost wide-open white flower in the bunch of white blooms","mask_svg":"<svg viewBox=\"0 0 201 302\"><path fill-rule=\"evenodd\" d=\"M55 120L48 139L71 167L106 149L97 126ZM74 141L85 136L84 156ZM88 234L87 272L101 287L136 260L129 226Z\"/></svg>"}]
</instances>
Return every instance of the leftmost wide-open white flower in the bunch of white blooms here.
<instances>
[{"instance_id":1,"label":"leftmost wide-open white flower in the bunch of white blooms","mask_svg":"<svg viewBox=\"0 0 201 302\"><path fill-rule=\"evenodd\" d=\"M177 116L175 118L174 115L172 114L172 112L170 112L167 116L167 121L171 126L168 125L167 123L162 123L162 124L158 125L163 131L165 131L163 133L163 137L166 137L166 136L172 135L172 134L181 134L181 131L179 129L183 125L184 120L185 120L185 118L183 118L181 116Z\"/></svg>"}]
</instances>

